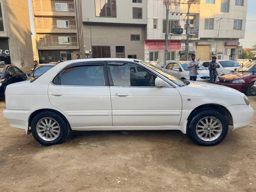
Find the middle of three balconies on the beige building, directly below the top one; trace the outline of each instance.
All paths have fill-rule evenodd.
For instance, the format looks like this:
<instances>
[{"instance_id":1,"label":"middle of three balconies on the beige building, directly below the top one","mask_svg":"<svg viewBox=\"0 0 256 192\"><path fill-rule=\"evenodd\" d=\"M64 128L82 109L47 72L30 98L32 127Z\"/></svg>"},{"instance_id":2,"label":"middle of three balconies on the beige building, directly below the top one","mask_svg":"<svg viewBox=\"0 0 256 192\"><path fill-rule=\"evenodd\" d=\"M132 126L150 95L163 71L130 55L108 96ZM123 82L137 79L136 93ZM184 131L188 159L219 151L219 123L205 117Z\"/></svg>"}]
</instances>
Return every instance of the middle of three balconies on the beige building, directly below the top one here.
<instances>
[{"instance_id":1,"label":"middle of three balconies on the beige building, directly below the top one","mask_svg":"<svg viewBox=\"0 0 256 192\"><path fill-rule=\"evenodd\" d=\"M77 33L76 26L36 25L36 33Z\"/></svg>"}]
</instances>

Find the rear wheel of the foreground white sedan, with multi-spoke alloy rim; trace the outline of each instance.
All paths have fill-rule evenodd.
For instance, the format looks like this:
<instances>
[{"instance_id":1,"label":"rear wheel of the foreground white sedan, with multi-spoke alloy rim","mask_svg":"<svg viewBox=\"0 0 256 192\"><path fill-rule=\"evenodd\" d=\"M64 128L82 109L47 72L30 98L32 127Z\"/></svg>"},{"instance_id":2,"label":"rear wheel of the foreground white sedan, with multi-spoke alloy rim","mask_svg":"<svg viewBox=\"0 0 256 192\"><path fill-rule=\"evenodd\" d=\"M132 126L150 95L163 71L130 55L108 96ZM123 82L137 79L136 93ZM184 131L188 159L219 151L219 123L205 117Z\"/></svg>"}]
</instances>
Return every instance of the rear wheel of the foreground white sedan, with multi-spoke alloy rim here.
<instances>
[{"instance_id":1,"label":"rear wheel of the foreground white sedan, with multi-spoke alloy rim","mask_svg":"<svg viewBox=\"0 0 256 192\"><path fill-rule=\"evenodd\" d=\"M40 144L50 146L60 144L67 138L69 126L57 113L44 111L33 118L31 132Z\"/></svg>"}]
</instances>

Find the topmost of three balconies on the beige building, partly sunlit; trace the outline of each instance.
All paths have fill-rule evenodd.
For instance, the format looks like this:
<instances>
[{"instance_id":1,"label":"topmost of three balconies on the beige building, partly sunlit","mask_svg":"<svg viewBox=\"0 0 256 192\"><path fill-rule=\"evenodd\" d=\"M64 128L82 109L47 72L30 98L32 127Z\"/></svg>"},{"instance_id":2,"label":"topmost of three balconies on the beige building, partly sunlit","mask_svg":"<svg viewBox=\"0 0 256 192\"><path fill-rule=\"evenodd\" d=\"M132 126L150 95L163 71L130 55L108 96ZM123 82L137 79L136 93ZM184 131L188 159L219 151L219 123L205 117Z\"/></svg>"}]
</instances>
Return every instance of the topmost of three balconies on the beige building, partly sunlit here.
<instances>
[{"instance_id":1,"label":"topmost of three balconies on the beige building, partly sunlit","mask_svg":"<svg viewBox=\"0 0 256 192\"><path fill-rule=\"evenodd\" d=\"M33 10L33 14L35 16L69 16L69 17L75 17L76 12L75 9L66 9L66 10L56 10L56 8L52 8L49 10L42 10L42 9L36 9Z\"/></svg>"}]
</instances>

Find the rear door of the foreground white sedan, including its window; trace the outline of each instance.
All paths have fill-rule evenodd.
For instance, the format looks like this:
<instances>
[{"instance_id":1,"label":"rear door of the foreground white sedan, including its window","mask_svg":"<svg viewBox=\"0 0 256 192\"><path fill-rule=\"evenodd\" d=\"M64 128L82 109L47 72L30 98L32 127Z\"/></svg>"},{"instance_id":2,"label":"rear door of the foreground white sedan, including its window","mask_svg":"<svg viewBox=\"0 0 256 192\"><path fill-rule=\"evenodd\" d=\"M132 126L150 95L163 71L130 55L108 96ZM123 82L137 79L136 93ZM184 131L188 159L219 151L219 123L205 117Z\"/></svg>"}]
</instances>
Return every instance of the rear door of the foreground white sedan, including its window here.
<instances>
[{"instance_id":1,"label":"rear door of the foreground white sedan, including its window","mask_svg":"<svg viewBox=\"0 0 256 192\"><path fill-rule=\"evenodd\" d=\"M72 129L112 126L105 62L80 62L64 68L49 84L51 104L63 111Z\"/></svg>"}]
</instances>

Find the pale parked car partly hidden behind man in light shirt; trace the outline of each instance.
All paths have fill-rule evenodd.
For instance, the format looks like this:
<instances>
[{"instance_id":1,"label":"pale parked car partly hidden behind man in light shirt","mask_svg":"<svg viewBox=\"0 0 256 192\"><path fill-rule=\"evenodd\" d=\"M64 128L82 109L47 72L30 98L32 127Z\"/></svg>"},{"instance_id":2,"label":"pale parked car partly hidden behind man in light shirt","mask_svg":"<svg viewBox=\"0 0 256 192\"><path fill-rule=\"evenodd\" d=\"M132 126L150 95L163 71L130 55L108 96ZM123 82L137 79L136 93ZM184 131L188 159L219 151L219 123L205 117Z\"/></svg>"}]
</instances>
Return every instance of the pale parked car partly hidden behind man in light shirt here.
<instances>
[{"instance_id":1,"label":"pale parked car partly hidden behind man in light shirt","mask_svg":"<svg viewBox=\"0 0 256 192\"><path fill-rule=\"evenodd\" d=\"M176 76L180 79L189 80L189 69L188 63L190 61L167 61L167 65L164 68L164 71L170 73L173 76ZM209 82L210 75L209 70L206 69L203 65L199 64L200 68L197 69L198 75L196 81Z\"/></svg>"}]
</instances>

